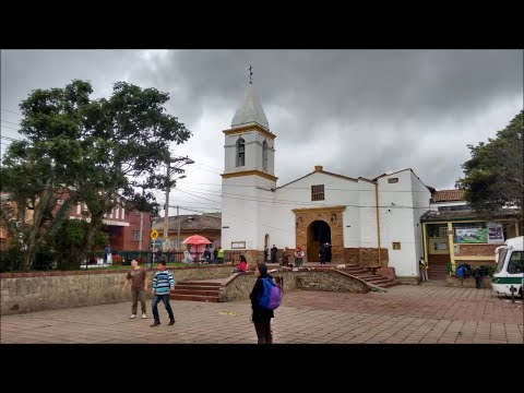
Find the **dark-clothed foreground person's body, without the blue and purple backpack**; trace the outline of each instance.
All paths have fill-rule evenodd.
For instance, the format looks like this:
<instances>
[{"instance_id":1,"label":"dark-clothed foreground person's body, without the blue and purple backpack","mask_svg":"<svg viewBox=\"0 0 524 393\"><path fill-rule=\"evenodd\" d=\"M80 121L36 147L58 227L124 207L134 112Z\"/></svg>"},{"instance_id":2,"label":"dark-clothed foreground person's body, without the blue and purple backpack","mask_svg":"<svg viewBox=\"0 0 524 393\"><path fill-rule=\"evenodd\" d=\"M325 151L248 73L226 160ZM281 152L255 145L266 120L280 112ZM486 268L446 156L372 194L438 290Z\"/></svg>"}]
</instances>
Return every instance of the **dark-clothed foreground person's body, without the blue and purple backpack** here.
<instances>
[{"instance_id":1,"label":"dark-clothed foreground person's body, without the blue and purple backpack","mask_svg":"<svg viewBox=\"0 0 524 393\"><path fill-rule=\"evenodd\" d=\"M273 344L273 337L271 334L271 319L275 317L273 310L266 310L260 307L259 299L264 291L264 283L262 278L272 278L267 274L267 266L265 263L259 263L254 270L254 275L257 276L257 282L254 283L253 290L249 298L251 299L251 308L253 309L253 314L251 317L254 323L254 330L257 331L257 336L259 337L259 344Z\"/></svg>"}]
</instances>

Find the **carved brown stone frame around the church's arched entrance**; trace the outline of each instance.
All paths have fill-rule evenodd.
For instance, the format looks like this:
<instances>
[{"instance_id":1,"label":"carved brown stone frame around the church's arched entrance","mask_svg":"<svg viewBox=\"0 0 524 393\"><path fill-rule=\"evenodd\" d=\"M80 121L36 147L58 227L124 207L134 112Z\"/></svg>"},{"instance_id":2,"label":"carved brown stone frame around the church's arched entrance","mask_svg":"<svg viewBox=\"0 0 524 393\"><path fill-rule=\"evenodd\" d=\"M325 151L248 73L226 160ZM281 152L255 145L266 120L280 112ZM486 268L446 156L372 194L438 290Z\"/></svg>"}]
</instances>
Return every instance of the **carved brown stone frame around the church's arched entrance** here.
<instances>
[{"instance_id":1,"label":"carved brown stone frame around the church's arched entrance","mask_svg":"<svg viewBox=\"0 0 524 393\"><path fill-rule=\"evenodd\" d=\"M294 209L295 213L295 242L296 247L301 247L306 255L308 254L308 228L312 222L323 221L331 229L331 254L333 262L344 260L344 223L342 212L346 209L344 205Z\"/></svg>"}]
</instances>

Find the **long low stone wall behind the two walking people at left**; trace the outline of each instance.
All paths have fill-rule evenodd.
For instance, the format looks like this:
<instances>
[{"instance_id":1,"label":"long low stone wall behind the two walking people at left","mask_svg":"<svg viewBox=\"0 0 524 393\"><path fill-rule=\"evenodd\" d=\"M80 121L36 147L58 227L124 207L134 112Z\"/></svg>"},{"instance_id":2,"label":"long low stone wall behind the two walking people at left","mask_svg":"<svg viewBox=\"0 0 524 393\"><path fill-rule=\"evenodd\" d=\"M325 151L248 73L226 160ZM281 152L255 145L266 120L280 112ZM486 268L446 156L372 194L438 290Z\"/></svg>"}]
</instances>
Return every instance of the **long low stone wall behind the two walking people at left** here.
<instances>
[{"instance_id":1,"label":"long low stone wall behind the two walking people at left","mask_svg":"<svg viewBox=\"0 0 524 393\"><path fill-rule=\"evenodd\" d=\"M231 265L169 267L177 283L224 278ZM146 269L148 286L156 269ZM131 300L124 290L129 270L0 274L0 315ZM151 290L146 291L151 298Z\"/></svg>"}]
</instances>

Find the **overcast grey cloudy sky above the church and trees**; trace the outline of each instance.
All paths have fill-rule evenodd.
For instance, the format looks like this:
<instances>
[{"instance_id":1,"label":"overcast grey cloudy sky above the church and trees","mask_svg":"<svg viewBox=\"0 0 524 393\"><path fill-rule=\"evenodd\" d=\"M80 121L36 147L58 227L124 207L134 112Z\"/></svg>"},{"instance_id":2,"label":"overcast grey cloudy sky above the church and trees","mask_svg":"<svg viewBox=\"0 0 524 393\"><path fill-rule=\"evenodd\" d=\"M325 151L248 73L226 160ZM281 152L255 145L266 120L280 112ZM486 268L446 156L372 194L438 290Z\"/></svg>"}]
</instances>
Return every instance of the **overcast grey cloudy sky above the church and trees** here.
<instances>
[{"instance_id":1,"label":"overcast grey cloudy sky above the church and trees","mask_svg":"<svg viewBox=\"0 0 524 393\"><path fill-rule=\"evenodd\" d=\"M493 138L523 108L522 50L2 50L2 153L5 136L22 138L13 112L32 90L73 79L91 81L95 97L117 81L153 86L193 132L172 148L195 164L170 204L219 211L209 200L219 202L222 131L243 100L249 64L277 135L277 186L323 165L365 178L412 168L428 186L453 188L467 145Z\"/></svg>"}]
</instances>

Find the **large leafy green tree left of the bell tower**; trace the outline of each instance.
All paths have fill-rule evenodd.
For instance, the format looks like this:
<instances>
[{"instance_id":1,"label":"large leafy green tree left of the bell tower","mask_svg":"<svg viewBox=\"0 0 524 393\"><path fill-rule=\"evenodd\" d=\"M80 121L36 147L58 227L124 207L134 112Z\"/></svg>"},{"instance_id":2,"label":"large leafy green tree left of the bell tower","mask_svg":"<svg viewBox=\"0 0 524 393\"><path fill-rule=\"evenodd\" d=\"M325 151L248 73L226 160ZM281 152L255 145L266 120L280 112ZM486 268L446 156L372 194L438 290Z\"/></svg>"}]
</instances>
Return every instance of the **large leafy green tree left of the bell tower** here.
<instances>
[{"instance_id":1,"label":"large leafy green tree left of the bell tower","mask_svg":"<svg viewBox=\"0 0 524 393\"><path fill-rule=\"evenodd\" d=\"M84 253L92 248L104 215L118 205L144 212L158 207L153 191L172 186L159 170L170 157L169 145L191 135L166 112L167 93L126 82L115 83L108 98L93 99L92 93L91 83L79 80L64 88L33 91L20 105L20 132L27 142L10 146L2 167L2 176L12 179L2 188L16 200L27 200L20 189L21 177L15 176L25 168L45 184L27 187L46 206L53 206L52 192L63 191L70 203L86 203L91 221ZM33 169L27 169L27 156L33 157ZM49 202L44 190L51 190Z\"/></svg>"}]
</instances>

